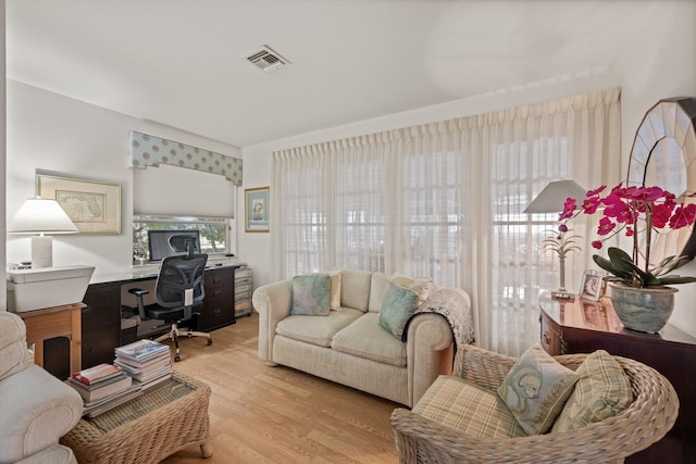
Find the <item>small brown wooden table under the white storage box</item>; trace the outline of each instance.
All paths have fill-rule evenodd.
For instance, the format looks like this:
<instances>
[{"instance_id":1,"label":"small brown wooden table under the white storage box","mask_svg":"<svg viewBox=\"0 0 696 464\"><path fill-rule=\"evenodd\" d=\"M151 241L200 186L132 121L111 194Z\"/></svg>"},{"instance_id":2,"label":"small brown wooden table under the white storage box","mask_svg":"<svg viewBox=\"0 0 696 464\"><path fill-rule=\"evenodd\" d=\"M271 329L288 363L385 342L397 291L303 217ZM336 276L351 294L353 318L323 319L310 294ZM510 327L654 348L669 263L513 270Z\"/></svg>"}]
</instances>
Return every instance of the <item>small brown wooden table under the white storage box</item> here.
<instances>
[{"instance_id":1,"label":"small brown wooden table under the white storage box","mask_svg":"<svg viewBox=\"0 0 696 464\"><path fill-rule=\"evenodd\" d=\"M44 341L57 337L70 340L70 372L78 372L82 359L83 303L16 313L26 325L26 341L34 343L34 363L44 367Z\"/></svg>"}]
</instances>

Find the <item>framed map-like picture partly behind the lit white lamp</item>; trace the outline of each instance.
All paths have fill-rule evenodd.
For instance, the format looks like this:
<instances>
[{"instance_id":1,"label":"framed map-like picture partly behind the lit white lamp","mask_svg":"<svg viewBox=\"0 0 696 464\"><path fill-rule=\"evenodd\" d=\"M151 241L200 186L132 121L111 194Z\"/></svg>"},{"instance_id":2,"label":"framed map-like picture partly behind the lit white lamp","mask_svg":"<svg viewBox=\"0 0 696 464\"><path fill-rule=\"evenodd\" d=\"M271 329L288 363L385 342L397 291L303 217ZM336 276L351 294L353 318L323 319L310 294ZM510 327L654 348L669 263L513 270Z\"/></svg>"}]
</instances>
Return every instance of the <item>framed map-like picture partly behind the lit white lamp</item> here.
<instances>
[{"instance_id":1,"label":"framed map-like picture partly behind the lit white lamp","mask_svg":"<svg viewBox=\"0 0 696 464\"><path fill-rule=\"evenodd\" d=\"M37 174L36 193L58 201L79 234L121 234L121 185Z\"/></svg>"}]
</instances>

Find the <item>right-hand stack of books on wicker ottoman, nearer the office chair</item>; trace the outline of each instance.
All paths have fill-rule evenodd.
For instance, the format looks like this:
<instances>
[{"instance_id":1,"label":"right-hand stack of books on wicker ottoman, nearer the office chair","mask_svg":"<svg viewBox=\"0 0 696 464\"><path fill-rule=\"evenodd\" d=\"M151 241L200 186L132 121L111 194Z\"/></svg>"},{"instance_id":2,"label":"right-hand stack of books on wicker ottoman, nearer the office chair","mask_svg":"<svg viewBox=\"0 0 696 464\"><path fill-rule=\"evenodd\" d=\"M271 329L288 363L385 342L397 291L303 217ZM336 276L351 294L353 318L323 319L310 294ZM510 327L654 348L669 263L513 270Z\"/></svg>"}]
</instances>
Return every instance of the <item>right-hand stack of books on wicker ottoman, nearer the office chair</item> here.
<instances>
[{"instance_id":1,"label":"right-hand stack of books on wicker ottoman, nearer the office chair","mask_svg":"<svg viewBox=\"0 0 696 464\"><path fill-rule=\"evenodd\" d=\"M116 348L113 363L142 390L172 377L171 349L153 340L138 340Z\"/></svg>"}]
</instances>

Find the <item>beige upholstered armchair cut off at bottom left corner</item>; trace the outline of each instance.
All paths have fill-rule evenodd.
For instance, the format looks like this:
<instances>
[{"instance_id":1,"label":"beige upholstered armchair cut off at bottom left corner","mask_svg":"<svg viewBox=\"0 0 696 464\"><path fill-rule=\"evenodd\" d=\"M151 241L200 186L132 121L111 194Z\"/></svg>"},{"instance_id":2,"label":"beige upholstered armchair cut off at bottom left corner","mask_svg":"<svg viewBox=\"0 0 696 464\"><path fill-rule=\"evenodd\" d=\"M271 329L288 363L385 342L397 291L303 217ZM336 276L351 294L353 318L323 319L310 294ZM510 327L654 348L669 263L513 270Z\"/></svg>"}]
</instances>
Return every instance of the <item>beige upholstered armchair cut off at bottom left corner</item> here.
<instances>
[{"instance_id":1,"label":"beige upholstered armchair cut off at bottom left corner","mask_svg":"<svg viewBox=\"0 0 696 464\"><path fill-rule=\"evenodd\" d=\"M76 463L59 440L82 412L75 390L32 363L22 318L0 312L0 463Z\"/></svg>"}]
</instances>

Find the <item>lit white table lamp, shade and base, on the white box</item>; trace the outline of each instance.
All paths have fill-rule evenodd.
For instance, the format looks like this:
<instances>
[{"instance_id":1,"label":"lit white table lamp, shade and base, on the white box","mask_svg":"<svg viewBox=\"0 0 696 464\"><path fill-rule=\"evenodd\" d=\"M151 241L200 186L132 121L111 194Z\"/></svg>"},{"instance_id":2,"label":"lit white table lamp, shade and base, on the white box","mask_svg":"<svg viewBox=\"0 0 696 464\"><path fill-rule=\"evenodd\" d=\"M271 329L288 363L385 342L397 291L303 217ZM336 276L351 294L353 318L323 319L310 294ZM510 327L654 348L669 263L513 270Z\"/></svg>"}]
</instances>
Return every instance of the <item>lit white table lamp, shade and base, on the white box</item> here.
<instances>
[{"instance_id":1,"label":"lit white table lamp, shade and base, on the white box","mask_svg":"<svg viewBox=\"0 0 696 464\"><path fill-rule=\"evenodd\" d=\"M8 224L9 234L32 237L32 267L53 266L53 238L45 234L76 234L77 226L55 200L27 199Z\"/></svg>"}]
</instances>

